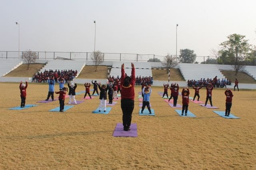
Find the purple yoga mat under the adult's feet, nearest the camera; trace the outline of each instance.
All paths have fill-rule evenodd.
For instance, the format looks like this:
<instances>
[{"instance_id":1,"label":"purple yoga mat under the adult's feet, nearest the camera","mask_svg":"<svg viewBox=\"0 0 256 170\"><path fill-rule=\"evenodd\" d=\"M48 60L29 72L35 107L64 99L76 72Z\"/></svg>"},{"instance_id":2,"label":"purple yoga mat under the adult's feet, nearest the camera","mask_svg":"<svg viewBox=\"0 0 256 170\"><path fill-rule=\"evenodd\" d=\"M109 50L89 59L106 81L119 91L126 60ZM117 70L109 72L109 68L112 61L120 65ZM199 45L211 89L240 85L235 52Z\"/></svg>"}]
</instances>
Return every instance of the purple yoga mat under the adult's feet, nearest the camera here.
<instances>
[{"instance_id":1,"label":"purple yoga mat under the adult's feet, nearest the camera","mask_svg":"<svg viewBox=\"0 0 256 170\"><path fill-rule=\"evenodd\" d=\"M138 137L137 124L132 123L130 125L130 131L124 131L122 123L117 123L113 133L113 137Z\"/></svg>"}]
</instances>

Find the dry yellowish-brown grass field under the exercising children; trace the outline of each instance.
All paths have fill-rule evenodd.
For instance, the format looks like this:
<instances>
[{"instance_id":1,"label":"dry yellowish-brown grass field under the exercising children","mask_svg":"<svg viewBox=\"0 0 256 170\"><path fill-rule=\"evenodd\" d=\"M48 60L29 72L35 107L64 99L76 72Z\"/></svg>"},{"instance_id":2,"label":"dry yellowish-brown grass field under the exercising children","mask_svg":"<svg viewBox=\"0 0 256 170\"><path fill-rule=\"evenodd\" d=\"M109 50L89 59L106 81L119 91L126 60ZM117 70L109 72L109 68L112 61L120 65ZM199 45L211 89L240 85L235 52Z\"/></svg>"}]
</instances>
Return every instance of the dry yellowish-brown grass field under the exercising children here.
<instances>
[{"instance_id":1,"label":"dry yellowish-brown grass field under the exercising children","mask_svg":"<svg viewBox=\"0 0 256 170\"><path fill-rule=\"evenodd\" d=\"M197 116L192 118L180 117L168 106L157 94L160 87L152 88L150 101L156 116L139 116L136 87L132 123L138 125L138 137L127 138L112 137L116 123L122 122L120 100L108 115L92 113L98 98L64 113L50 112L58 101L36 103L46 98L48 85L29 83L26 104L38 106L10 110L20 105L19 84L0 86L0 169L256 169L255 91L234 92L231 113L241 119L225 119L190 102L189 110ZM82 90L79 84L76 91ZM204 101L206 90L200 95ZM213 104L225 109L224 89L213 90Z\"/></svg>"}]
</instances>

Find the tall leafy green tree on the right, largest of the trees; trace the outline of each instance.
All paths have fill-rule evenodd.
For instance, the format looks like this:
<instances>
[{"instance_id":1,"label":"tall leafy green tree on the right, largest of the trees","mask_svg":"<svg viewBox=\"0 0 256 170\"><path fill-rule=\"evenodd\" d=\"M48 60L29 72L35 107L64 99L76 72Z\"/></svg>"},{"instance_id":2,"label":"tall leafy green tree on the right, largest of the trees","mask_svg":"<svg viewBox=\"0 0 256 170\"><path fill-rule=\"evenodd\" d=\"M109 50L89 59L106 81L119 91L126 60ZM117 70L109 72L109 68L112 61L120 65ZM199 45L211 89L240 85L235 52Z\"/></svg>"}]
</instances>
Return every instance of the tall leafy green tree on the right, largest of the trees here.
<instances>
[{"instance_id":1,"label":"tall leafy green tree on the right, largest of the trees","mask_svg":"<svg viewBox=\"0 0 256 170\"><path fill-rule=\"evenodd\" d=\"M228 41L224 41L220 44L222 54L222 60L225 59L232 65L237 75L238 71L244 67L244 59L250 51L250 45L248 40L244 39L245 35L231 34L228 35ZM227 64L227 63L225 63Z\"/></svg>"}]
</instances>

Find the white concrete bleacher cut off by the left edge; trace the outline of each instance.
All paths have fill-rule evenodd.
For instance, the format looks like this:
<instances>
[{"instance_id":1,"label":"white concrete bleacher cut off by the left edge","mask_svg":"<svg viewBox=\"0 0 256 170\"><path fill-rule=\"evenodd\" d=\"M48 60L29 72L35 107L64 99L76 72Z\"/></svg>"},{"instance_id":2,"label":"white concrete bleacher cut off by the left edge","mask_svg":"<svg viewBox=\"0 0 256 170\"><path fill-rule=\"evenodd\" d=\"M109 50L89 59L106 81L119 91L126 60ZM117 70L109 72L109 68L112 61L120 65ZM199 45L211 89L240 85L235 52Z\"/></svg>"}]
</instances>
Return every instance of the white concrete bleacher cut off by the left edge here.
<instances>
[{"instance_id":1,"label":"white concrete bleacher cut off by the left edge","mask_svg":"<svg viewBox=\"0 0 256 170\"><path fill-rule=\"evenodd\" d=\"M0 76L8 74L22 63L19 59L0 59Z\"/></svg>"}]
</instances>

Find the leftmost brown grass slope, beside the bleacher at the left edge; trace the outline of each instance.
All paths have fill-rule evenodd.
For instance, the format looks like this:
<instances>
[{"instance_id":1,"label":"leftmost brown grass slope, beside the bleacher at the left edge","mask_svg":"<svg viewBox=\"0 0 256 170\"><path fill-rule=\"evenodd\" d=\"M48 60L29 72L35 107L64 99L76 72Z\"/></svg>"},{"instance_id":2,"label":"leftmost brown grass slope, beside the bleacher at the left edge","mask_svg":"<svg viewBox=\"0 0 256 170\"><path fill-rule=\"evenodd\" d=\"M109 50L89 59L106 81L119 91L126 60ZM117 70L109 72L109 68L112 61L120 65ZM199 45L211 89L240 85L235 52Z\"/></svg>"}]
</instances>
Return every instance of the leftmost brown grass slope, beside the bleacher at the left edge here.
<instances>
[{"instance_id":1,"label":"leftmost brown grass slope, beside the bleacher at the left edge","mask_svg":"<svg viewBox=\"0 0 256 170\"><path fill-rule=\"evenodd\" d=\"M30 64L29 70L27 70L28 64L21 64L4 77L32 77L35 73L40 71L44 65L45 64Z\"/></svg>"}]
</instances>

